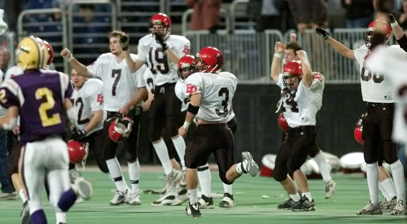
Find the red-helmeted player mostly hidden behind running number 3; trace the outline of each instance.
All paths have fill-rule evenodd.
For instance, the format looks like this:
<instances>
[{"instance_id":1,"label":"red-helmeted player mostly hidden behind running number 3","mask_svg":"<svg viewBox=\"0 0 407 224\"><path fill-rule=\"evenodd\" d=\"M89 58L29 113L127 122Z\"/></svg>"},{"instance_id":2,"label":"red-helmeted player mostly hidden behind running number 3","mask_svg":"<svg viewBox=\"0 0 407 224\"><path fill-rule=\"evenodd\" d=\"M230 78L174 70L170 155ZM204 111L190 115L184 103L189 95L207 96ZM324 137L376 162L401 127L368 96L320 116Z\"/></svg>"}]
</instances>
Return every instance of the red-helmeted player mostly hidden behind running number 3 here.
<instances>
[{"instance_id":1,"label":"red-helmeted player mostly hidden behind running number 3","mask_svg":"<svg viewBox=\"0 0 407 224\"><path fill-rule=\"evenodd\" d=\"M178 62L178 75L179 75L179 80L177 84L175 84L175 94L183 102L182 104L182 109L183 111L183 117L182 121L184 121L184 117L186 116L186 110L188 109L189 105L189 98L185 96L185 85L184 81L186 77L188 77L191 74L191 65L195 61L195 57L187 54L181 59L179 59ZM237 128L237 122L236 122L236 117L233 112L228 113L226 117L226 124L232 130L232 135L236 132ZM182 124L181 124L182 125ZM211 196L211 175L210 175L210 170L209 170L209 164L205 163L204 165L199 165L197 167L197 174L198 174L198 180L199 180L199 185L201 186L201 191L202 191L202 196L201 199L199 199L198 204L199 208L201 209L212 209L214 208L213 204L213 198ZM232 194L232 185L228 185L225 183L223 184L223 189L224 189L224 194L223 194L223 199L219 203L219 207L221 208L232 208L235 206L234 204L234 198Z\"/></svg>"}]
</instances>

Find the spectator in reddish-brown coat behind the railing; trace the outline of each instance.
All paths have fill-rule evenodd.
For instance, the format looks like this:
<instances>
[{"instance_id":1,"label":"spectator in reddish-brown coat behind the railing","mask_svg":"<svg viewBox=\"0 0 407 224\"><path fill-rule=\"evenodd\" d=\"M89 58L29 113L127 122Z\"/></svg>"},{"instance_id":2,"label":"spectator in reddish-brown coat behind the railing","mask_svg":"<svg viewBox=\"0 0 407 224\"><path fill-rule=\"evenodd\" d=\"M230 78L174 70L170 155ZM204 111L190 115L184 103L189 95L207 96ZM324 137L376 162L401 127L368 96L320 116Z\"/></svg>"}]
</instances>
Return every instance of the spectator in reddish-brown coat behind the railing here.
<instances>
[{"instance_id":1,"label":"spectator in reddish-brown coat behind the railing","mask_svg":"<svg viewBox=\"0 0 407 224\"><path fill-rule=\"evenodd\" d=\"M191 14L191 30L210 30L216 33L219 28L222 0L186 0L186 4L193 7Z\"/></svg>"}]
</instances>

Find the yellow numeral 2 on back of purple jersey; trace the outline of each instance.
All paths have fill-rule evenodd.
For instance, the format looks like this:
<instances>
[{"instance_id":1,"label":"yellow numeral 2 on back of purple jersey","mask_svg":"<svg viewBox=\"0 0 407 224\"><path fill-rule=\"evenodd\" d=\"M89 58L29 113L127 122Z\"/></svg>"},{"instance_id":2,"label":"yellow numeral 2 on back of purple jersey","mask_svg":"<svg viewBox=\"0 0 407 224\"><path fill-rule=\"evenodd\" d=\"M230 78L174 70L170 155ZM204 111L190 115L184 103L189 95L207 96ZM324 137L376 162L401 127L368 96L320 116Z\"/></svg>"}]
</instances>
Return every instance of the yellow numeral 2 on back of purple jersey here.
<instances>
[{"instance_id":1,"label":"yellow numeral 2 on back of purple jersey","mask_svg":"<svg viewBox=\"0 0 407 224\"><path fill-rule=\"evenodd\" d=\"M38 112L41 118L42 126L48 127L61 123L61 117L59 113L54 113L51 117L48 117L47 110L52 109L55 105L55 100L52 91L46 87L39 88L35 91L35 98L41 100L45 96L46 102L39 105Z\"/></svg>"}]
</instances>

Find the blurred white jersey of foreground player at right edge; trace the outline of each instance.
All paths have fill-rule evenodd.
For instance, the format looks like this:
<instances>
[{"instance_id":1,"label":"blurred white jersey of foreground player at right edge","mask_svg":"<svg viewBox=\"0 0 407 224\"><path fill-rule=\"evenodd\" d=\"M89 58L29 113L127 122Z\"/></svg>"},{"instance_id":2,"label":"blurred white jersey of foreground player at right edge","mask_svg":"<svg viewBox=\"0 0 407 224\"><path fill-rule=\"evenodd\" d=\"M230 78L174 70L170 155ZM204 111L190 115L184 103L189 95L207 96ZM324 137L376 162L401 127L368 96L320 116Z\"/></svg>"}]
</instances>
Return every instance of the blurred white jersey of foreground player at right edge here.
<instances>
[{"instance_id":1,"label":"blurred white jersey of foreground player at right edge","mask_svg":"<svg viewBox=\"0 0 407 224\"><path fill-rule=\"evenodd\" d=\"M407 53L404 52L404 54L404 56L401 56L389 48L378 47L366 60L365 66L380 71L392 83L396 100L392 138L394 141L407 143L407 120L405 117L407 107Z\"/></svg>"}]
</instances>

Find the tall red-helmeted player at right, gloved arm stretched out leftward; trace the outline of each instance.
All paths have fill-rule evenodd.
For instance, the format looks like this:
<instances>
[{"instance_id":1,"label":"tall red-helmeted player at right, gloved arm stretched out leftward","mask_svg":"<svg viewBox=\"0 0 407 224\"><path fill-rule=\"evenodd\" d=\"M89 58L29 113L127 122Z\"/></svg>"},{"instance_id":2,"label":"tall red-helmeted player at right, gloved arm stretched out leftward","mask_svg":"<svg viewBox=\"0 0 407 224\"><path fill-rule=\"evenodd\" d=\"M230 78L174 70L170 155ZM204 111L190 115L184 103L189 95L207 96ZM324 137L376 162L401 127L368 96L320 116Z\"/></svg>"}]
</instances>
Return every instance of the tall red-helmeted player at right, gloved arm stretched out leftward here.
<instances>
[{"instance_id":1,"label":"tall red-helmeted player at right, gloved arm stretched out leftward","mask_svg":"<svg viewBox=\"0 0 407 224\"><path fill-rule=\"evenodd\" d=\"M376 32L376 29L383 30L383 33ZM392 141L393 116L395 96L393 85L389 78L382 74L373 72L364 66L365 58L379 45L387 43L390 38L390 25L381 20L374 20L369 24L365 35L365 45L356 50L350 50L342 43L329 36L324 27L316 28L316 32L325 39L342 56L356 60L360 66L361 91L363 101L368 104L368 115L363 124L362 138L364 144L364 158L367 163L367 180L370 193L370 201L357 215L381 215L381 204L379 204L379 181L383 183L383 174L379 172L379 153L383 147L383 159L390 164L394 185L397 192L397 200L405 202L405 183L403 165L397 157L396 144ZM399 46L389 46L389 51L394 54L403 55L403 50ZM397 208L400 208L398 206ZM400 211L393 209L391 214L400 215Z\"/></svg>"}]
</instances>

